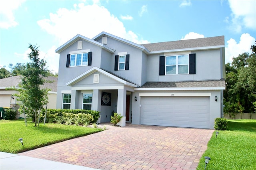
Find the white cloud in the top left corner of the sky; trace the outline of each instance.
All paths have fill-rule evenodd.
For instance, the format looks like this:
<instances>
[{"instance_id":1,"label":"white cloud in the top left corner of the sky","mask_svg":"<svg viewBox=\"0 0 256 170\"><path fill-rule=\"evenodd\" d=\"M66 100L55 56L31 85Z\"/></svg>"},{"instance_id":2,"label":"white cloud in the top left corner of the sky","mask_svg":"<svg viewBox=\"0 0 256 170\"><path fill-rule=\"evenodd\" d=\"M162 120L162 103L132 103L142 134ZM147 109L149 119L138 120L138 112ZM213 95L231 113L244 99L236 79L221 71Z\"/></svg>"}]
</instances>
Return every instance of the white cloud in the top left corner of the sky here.
<instances>
[{"instance_id":1,"label":"white cloud in the top left corner of the sky","mask_svg":"<svg viewBox=\"0 0 256 170\"><path fill-rule=\"evenodd\" d=\"M0 1L0 28L8 29L15 27L14 11L17 10L25 0L1 0Z\"/></svg>"}]
</instances>

